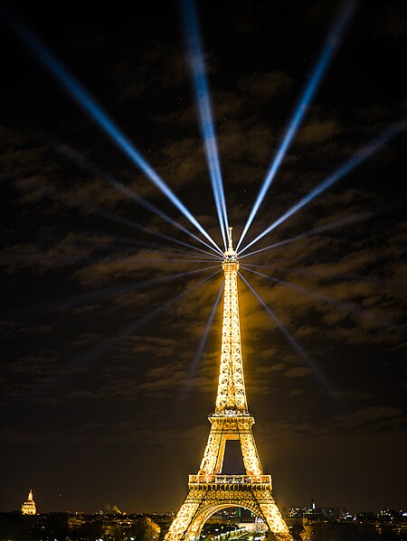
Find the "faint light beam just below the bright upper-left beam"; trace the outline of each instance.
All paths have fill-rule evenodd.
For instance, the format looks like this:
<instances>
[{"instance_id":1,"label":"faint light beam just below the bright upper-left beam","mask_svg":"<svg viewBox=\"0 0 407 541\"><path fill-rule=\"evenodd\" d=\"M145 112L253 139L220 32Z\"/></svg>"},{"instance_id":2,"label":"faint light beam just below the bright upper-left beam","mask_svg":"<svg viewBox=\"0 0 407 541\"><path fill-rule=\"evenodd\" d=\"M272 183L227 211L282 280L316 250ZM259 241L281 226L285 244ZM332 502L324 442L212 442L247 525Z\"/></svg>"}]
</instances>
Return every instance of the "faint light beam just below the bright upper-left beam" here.
<instances>
[{"instance_id":1,"label":"faint light beam just below the bright upper-left beam","mask_svg":"<svg viewBox=\"0 0 407 541\"><path fill-rule=\"evenodd\" d=\"M72 162L80 165L80 167L84 169L85 171L88 171L89 173L96 175L101 181L106 182L110 186L113 186L114 188L116 188L118 191L121 191L122 193L127 195L132 201L136 201L137 204L139 204L141 207L144 207L145 209L149 210L150 212L152 212L159 218L165 219L168 223L170 223L176 229L183 231L184 233L186 233L186 235L189 235L190 237L194 238L201 244L204 244L205 247L210 248L211 250L213 250L215 254L219 256L219 251L216 250L207 242L205 242L202 238L199 238L196 235L194 235L194 233L192 233L189 229L186 229L184 226L182 226L177 221L175 221L175 219L172 219L170 216L168 216L166 212L158 209L156 205L153 205L153 203L150 203L145 198L138 195L136 191L128 188L128 186L123 184L123 182L119 182L112 175L100 169L100 167L96 165L95 163L91 163L88 158L86 158L85 156L83 156L82 154L80 154L79 152L71 148L70 146L63 145L63 144L59 144L59 145L53 144L52 146L55 148L55 150L59 154L62 154L63 156L68 157Z\"/></svg>"}]
</instances>

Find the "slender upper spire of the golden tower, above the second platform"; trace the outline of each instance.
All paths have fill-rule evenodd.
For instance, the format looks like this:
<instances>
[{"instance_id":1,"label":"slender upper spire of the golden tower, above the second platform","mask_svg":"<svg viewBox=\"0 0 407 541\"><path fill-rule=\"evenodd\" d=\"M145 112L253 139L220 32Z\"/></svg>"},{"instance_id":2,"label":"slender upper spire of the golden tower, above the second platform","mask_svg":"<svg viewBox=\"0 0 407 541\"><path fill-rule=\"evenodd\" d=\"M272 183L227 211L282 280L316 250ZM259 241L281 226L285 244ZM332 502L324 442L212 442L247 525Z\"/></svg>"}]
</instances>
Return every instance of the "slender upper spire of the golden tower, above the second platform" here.
<instances>
[{"instance_id":1,"label":"slender upper spire of the golden tower, above the second platform","mask_svg":"<svg viewBox=\"0 0 407 541\"><path fill-rule=\"evenodd\" d=\"M237 273L239 259L233 249L232 228L229 247L224 252L222 351L215 415L248 415L241 358L241 325Z\"/></svg>"}]
</instances>

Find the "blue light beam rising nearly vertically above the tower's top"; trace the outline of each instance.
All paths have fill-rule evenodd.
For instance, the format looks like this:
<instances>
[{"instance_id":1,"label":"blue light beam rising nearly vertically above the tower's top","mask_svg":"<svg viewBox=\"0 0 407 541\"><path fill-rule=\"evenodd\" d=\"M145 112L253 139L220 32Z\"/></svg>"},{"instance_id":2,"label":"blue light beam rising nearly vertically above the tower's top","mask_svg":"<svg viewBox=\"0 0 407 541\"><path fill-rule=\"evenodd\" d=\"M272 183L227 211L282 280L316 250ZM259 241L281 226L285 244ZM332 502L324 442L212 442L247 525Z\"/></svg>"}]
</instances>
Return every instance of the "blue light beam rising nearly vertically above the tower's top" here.
<instances>
[{"instance_id":1,"label":"blue light beam rising nearly vertically above the tower's top","mask_svg":"<svg viewBox=\"0 0 407 541\"><path fill-rule=\"evenodd\" d=\"M206 77L204 64L204 48L198 15L194 0L183 0L182 12L184 21L185 42L187 45L188 66L194 86L196 108L198 111L201 135L204 143L204 153L208 165L216 212L222 231L225 249L227 248L228 216L224 199L221 164L218 146L216 143L215 127L213 122L213 107L211 94Z\"/></svg>"}]
</instances>

